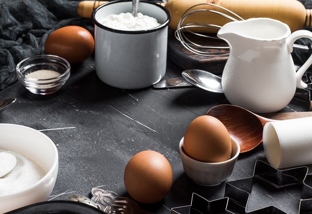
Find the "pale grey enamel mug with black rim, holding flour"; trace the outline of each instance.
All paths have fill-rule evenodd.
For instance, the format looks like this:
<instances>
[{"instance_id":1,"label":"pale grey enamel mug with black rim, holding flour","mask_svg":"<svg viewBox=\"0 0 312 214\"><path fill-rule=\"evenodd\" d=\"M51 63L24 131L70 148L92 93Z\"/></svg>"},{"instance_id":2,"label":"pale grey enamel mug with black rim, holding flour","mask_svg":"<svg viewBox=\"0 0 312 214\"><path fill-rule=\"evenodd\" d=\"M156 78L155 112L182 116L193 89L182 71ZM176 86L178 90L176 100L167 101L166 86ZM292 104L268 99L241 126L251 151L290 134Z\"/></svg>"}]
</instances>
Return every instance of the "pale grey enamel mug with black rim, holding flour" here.
<instances>
[{"instance_id":1,"label":"pale grey enamel mug with black rim, holding flour","mask_svg":"<svg viewBox=\"0 0 312 214\"><path fill-rule=\"evenodd\" d=\"M166 8L140 1L138 12L156 18L159 26L147 30L118 30L101 24L110 14L132 13L132 1L110 1L92 13L95 24L95 66L98 77L117 88L139 89L158 82L166 71Z\"/></svg>"}]
</instances>

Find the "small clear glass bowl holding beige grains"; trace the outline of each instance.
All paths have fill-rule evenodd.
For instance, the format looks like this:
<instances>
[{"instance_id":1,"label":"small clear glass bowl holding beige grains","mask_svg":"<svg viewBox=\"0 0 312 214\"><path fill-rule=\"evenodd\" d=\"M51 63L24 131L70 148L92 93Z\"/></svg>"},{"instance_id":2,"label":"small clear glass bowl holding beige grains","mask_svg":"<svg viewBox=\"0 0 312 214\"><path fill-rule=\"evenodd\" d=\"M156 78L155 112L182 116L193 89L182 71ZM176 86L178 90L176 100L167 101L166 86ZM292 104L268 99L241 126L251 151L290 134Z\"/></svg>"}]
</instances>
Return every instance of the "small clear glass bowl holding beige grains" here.
<instances>
[{"instance_id":1,"label":"small clear glass bowl holding beige grains","mask_svg":"<svg viewBox=\"0 0 312 214\"><path fill-rule=\"evenodd\" d=\"M37 74L29 74L37 71ZM59 73L59 75L57 73ZM49 74L56 74L52 77ZM23 59L16 65L17 79L34 94L52 94L59 90L70 76L70 64L54 55L36 55Z\"/></svg>"}]
</instances>

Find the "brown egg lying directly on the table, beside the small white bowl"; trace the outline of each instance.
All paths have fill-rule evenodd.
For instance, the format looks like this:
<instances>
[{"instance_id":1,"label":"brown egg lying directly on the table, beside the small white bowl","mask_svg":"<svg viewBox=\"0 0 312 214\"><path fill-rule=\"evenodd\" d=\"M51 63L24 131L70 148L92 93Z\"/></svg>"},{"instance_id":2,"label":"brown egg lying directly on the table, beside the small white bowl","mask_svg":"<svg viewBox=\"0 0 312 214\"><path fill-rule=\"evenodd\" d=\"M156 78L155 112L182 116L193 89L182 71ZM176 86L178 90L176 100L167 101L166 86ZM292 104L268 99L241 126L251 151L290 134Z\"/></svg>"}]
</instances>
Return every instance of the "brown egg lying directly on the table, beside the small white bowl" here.
<instances>
[{"instance_id":1,"label":"brown egg lying directly on the table, beside the small white bowl","mask_svg":"<svg viewBox=\"0 0 312 214\"><path fill-rule=\"evenodd\" d=\"M129 195L138 202L152 204L171 189L172 169L167 159L155 151L143 151L128 162L124 182Z\"/></svg>"}]
</instances>

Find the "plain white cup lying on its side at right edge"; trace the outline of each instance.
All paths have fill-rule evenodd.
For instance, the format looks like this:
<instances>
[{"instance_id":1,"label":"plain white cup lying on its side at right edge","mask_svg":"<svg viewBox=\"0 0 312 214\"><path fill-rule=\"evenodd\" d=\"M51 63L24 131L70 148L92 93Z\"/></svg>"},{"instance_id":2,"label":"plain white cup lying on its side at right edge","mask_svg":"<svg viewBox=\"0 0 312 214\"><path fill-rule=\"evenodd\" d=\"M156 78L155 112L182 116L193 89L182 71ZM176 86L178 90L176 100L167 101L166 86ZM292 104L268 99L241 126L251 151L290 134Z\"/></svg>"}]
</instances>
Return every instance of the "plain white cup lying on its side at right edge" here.
<instances>
[{"instance_id":1,"label":"plain white cup lying on its side at right edge","mask_svg":"<svg viewBox=\"0 0 312 214\"><path fill-rule=\"evenodd\" d=\"M312 117L266 123L263 147L269 163L277 168L312 164Z\"/></svg>"}]
</instances>

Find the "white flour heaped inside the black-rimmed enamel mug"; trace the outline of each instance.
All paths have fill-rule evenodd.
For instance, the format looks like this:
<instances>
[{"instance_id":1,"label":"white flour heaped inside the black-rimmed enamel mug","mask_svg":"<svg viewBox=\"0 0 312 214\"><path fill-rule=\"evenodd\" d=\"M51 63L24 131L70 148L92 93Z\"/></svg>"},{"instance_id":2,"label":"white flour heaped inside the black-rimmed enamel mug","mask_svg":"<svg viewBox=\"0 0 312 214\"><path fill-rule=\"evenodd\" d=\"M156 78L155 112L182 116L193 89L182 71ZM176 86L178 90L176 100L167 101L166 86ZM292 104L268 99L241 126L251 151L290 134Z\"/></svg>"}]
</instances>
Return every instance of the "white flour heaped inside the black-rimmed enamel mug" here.
<instances>
[{"instance_id":1,"label":"white flour heaped inside the black-rimmed enamel mug","mask_svg":"<svg viewBox=\"0 0 312 214\"><path fill-rule=\"evenodd\" d=\"M113 29L128 31L148 30L160 25L156 18L143 15L141 12L138 13L137 17L134 17L130 12L120 13L119 15L111 14L100 22Z\"/></svg>"}]
</instances>

